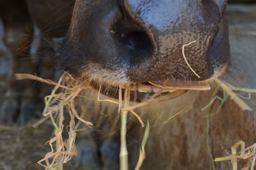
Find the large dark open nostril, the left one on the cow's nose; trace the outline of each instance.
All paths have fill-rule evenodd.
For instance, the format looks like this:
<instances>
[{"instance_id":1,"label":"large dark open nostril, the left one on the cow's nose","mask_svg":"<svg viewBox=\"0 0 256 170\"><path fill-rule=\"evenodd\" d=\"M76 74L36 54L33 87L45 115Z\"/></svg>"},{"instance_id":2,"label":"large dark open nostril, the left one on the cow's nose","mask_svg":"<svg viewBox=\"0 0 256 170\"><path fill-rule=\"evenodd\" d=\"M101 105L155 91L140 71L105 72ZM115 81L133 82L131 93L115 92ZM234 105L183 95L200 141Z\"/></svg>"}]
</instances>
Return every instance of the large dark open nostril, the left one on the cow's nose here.
<instances>
[{"instance_id":1,"label":"large dark open nostril, the left one on the cow's nose","mask_svg":"<svg viewBox=\"0 0 256 170\"><path fill-rule=\"evenodd\" d=\"M113 32L117 46L124 53L122 57L129 62L129 66L138 66L151 57L152 43L147 33L140 27L122 20L115 24L111 32Z\"/></svg>"}]
</instances>

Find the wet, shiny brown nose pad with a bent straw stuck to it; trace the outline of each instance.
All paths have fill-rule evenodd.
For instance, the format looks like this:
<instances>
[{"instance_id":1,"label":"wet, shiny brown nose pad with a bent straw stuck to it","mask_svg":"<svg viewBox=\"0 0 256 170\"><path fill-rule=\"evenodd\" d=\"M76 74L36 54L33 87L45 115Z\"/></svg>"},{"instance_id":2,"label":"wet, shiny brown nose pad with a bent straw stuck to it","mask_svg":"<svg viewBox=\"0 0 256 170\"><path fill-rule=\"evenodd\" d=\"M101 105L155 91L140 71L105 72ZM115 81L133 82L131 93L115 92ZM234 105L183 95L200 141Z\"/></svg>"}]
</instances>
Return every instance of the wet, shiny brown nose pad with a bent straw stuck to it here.
<instances>
[{"instance_id":1,"label":"wet, shiny brown nose pad with a bent straw stuck to it","mask_svg":"<svg viewBox=\"0 0 256 170\"><path fill-rule=\"evenodd\" d=\"M207 52L220 22L216 3L124 0L122 12L124 20L113 31L129 53L125 60L132 81L204 80L212 75Z\"/></svg>"}]
</instances>

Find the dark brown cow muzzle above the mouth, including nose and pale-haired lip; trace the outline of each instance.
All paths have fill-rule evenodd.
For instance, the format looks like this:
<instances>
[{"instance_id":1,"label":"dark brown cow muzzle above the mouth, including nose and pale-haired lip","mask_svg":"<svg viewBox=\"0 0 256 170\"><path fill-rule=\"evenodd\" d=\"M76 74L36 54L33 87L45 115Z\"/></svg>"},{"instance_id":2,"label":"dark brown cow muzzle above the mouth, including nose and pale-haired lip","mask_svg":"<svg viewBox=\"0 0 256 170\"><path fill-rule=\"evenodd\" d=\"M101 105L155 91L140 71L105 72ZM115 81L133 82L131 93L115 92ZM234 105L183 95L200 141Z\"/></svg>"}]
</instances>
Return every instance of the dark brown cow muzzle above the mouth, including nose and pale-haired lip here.
<instances>
[{"instance_id":1,"label":"dark brown cow muzzle above the mouth, including nose and pale-haired lip","mask_svg":"<svg viewBox=\"0 0 256 170\"><path fill-rule=\"evenodd\" d=\"M114 87L202 82L229 58L226 0L76 0L61 69Z\"/></svg>"}]
</instances>

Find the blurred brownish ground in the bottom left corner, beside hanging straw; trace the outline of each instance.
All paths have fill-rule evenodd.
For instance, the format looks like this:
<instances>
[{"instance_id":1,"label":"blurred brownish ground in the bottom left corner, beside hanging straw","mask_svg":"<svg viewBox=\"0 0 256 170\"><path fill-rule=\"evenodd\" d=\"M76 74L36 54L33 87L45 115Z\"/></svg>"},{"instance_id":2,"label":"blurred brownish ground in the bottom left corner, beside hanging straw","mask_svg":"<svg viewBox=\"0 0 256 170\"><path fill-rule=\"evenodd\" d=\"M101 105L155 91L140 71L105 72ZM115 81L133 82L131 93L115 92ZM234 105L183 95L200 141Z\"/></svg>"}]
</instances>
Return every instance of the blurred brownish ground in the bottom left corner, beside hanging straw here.
<instances>
[{"instance_id":1,"label":"blurred brownish ground in the bottom left corner, beside hanging straw","mask_svg":"<svg viewBox=\"0 0 256 170\"><path fill-rule=\"evenodd\" d=\"M51 131L47 124L37 129L31 124L0 125L0 169L43 169L36 162L49 152L44 144Z\"/></svg>"}]
</instances>

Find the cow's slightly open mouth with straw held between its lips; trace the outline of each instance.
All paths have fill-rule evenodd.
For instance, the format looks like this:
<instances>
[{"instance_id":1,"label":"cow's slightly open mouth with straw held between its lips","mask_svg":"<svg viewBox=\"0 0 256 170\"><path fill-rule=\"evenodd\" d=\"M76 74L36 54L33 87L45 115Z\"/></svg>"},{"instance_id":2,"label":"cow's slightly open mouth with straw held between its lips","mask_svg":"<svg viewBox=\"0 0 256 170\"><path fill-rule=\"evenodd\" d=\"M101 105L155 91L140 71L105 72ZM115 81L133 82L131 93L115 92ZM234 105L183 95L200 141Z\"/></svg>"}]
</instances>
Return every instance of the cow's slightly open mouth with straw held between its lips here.
<instances>
[{"instance_id":1,"label":"cow's slightly open mouth with straw held between its lips","mask_svg":"<svg viewBox=\"0 0 256 170\"><path fill-rule=\"evenodd\" d=\"M194 85L191 85L193 83ZM153 82L136 83L133 82L128 85L130 90L130 101L135 103L142 103L145 101L166 101L182 96L188 90L209 90L209 85L199 85L196 82L183 83L172 85L166 83L165 85L159 85ZM98 90L104 96L108 96L111 99L124 99L124 91L127 87L108 87L107 85L94 85L94 89ZM121 90L120 90L121 88Z\"/></svg>"}]
</instances>

